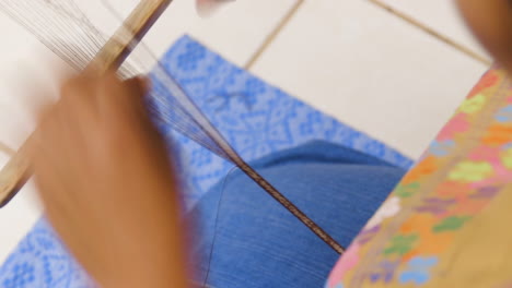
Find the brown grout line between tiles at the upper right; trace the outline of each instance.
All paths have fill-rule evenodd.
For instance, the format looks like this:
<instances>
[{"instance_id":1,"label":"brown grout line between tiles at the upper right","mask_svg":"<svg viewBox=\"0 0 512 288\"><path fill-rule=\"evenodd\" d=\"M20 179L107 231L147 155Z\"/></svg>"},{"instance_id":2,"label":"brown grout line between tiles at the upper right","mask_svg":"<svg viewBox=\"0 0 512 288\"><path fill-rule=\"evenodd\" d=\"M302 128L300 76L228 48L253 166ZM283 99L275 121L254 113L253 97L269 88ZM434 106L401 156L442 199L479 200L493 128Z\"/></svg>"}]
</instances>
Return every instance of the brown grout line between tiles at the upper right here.
<instances>
[{"instance_id":1,"label":"brown grout line between tiles at the upper right","mask_svg":"<svg viewBox=\"0 0 512 288\"><path fill-rule=\"evenodd\" d=\"M491 65L492 62L487 59L486 57L475 52L474 50L467 48L466 46L459 44L459 43L456 43L454 40L452 40L450 37L446 37L440 33L438 33L437 31L434 31L433 28L424 25L423 23L415 20L414 17L407 15L406 13L404 12L400 12L400 11L397 11L396 9L394 9L393 7L391 7L389 4L385 4L383 3L381 0L368 0L370 1L371 3L386 10L387 12L394 14L395 16L404 20L405 22L409 23L410 25L412 26L416 26L417 28L423 31L424 33L433 36L434 38L445 43L446 45L451 46L452 48L458 50L459 52L463 52L465 53L466 56L473 58L474 60L476 61L479 61L486 65Z\"/></svg>"}]
</instances>

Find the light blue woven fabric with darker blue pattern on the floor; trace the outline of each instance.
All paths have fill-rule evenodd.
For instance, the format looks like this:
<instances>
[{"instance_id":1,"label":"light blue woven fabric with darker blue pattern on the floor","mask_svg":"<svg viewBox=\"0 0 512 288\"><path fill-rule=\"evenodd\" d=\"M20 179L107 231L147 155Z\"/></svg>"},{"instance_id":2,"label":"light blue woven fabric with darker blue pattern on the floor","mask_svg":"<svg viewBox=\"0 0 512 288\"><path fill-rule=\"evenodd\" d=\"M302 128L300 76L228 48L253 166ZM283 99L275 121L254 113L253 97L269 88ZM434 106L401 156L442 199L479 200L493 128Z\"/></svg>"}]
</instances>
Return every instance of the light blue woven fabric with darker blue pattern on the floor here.
<instances>
[{"instance_id":1,"label":"light blue woven fabric with darker blue pattern on the floor","mask_svg":"<svg viewBox=\"0 0 512 288\"><path fill-rule=\"evenodd\" d=\"M411 165L385 144L266 84L187 36L161 62L246 160L325 140L403 168ZM161 129L179 151L190 207L233 166L170 128ZM90 283L43 218L0 267L0 287L79 288Z\"/></svg>"}]
</instances>

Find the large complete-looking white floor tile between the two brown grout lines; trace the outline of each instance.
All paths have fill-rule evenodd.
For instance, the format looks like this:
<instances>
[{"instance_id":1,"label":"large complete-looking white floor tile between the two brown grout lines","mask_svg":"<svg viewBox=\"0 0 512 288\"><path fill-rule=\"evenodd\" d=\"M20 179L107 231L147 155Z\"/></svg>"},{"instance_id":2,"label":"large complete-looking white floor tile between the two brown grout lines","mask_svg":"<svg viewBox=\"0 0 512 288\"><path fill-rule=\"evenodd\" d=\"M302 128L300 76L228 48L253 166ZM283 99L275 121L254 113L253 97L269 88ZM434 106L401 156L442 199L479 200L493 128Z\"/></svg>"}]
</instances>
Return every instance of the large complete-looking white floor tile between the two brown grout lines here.
<instances>
[{"instance_id":1,"label":"large complete-looking white floor tile between the two brown grout lines","mask_svg":"<svg viewBox=\"0 0 512 288\"><path fill-rule=\"evenodd\" d=\"M369 1L315 0L252 70L417 157L485 69Z\"/></svg>"}]
</instances>

